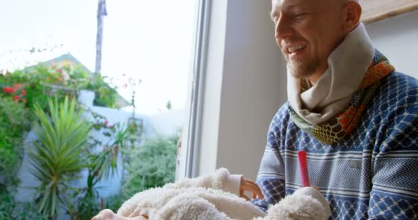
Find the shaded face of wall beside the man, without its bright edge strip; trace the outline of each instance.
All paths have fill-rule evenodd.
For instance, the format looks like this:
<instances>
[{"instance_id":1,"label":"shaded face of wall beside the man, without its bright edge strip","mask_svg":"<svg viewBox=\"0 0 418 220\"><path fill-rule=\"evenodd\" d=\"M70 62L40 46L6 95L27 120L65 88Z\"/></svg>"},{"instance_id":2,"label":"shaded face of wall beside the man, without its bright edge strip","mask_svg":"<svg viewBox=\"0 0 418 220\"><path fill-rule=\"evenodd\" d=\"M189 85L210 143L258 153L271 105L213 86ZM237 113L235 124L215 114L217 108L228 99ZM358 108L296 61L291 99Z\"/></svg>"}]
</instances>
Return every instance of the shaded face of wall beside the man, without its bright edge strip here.
<instances>
[{"instance_id":1,"label":"shaded face of wall beside the man, without its bright edge strip","mask_svg":"<svg viewBox=\"0 0 418 220\"><path fill-rule=\"evenodd\" d=\"M255 179L267 129L286 100L271 1L228 1L218 166Z\"/></svg>"}]
</instances>

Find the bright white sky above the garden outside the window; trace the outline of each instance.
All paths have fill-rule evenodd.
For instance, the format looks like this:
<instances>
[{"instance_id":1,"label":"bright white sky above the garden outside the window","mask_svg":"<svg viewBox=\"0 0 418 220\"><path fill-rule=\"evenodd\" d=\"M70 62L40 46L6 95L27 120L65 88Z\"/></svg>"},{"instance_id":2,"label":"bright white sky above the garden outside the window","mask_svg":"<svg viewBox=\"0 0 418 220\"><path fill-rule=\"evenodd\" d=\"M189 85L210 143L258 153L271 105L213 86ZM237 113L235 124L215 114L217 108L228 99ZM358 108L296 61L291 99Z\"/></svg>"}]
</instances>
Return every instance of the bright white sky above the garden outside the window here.
<instances>
[{"instance_id":1,"label":"bright white sky above the garden outside the window","mask_svg":"<svg viewBox=\"0 0 418 220\"><path fill-rule=\"evenodd\" d=\"M107 0L102 74L135 89L137 113L183 109L192 64L195 0ZM71 53L91 71L96 61L98 0L0 0L0 69ZM32 47L44 49L30 54Z\"/></svg>"}]
</instances>

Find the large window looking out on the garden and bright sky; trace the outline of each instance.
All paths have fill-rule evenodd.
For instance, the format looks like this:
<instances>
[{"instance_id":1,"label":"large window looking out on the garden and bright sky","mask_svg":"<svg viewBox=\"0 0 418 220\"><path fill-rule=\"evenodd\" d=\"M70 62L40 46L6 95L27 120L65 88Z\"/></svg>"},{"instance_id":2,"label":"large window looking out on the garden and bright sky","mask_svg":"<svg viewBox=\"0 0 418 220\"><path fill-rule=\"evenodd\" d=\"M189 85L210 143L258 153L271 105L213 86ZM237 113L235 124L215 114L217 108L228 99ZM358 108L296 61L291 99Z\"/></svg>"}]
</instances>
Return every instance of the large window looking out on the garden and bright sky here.
<instances>
[{"instance_id":1,"label":"large window looking out on the garden and bright sky","mask_svg":"<svg viewBox=\"0 0 418 220\"><path fill-rule=\"evenodd\" d=\"M194 40L197 4L193 0L0 3L0 8L7 9L0 14L0 102L8 104L0 108L0 117L10 118L13 113L19 118L0 123L0 139L13 138L13 142L0 141L0 152L8 152L0 156L0 179L6 180L0 184L18 188L13 214L35 196L46 199L43 214L69 212L89 219L100 209L115 210L133 192L174 181L177 140L184 119L189 118L189 75L197 77L190 69L199 66L193 64L199 54L195 50L201 47ZM67 204L46 198L42 184L52 179L36 176L32 169L33 157L40 157L38 148L47 145L34 133L31 119L39 118L35 104L51 115L47 100L54 96L58 108L65 96L76 98L84 109L83 126L91 126L83 153L72 157L78 160L79 172L54 177L62 182L67 176L80 176L65 182L74 190L57 186ZM9 131L12 123L15 133ZM61 132L60 138L68 133ZM61 147L58 139L50 147ZM28 148L34 152L23 157ZM11 162L16 166L6 166ZM45 164L38 165L46 170ZM28 186L43 193L36 194ZM76 197L69 199L72 196ZM35 207L28 212L36 219L41 215L37 211Z\"/></svg>"}]
</instances>

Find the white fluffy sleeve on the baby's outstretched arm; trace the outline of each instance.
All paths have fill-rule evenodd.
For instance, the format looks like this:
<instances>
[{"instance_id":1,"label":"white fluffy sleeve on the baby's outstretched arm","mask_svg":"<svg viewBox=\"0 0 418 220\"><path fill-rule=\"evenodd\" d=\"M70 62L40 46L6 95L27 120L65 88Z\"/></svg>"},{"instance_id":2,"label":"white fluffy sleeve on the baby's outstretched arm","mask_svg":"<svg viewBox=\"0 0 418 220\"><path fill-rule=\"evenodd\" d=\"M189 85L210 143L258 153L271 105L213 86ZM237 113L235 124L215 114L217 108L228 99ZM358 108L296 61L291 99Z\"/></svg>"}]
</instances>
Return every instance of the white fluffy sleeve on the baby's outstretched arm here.
<instances>
[{"instance_id":1,"label":"white fluffy sleeve on the baby's outstretched arm","mask_svg":"<svg viewBox=\"0 0 418 220\"><path fill-rule=\"evenodd\" d=\"M241 184L242 175L231 175L226 168L219 168L214 173L204 175L196 178L181 179L173 184L167 184L166 188L189 188L189 187L203 187L213 188L231 192L239 195L239 187Z\"/></svg>"}]
</instances>

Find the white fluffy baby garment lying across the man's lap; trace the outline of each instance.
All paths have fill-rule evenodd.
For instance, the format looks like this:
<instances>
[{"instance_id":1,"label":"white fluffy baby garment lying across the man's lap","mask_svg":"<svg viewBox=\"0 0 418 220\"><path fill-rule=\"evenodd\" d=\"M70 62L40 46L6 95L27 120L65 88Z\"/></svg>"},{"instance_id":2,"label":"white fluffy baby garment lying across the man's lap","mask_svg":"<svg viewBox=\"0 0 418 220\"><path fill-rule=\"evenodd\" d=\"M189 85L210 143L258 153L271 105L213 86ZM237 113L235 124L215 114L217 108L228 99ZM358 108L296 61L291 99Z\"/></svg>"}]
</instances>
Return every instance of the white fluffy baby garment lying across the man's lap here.
<instances>
[{"instance_id":1,"label":"white fluffy baby garment lying across the man's lap","mask_svg":"<svg viewBox=\"0 0 418 220\"><path fill-rule=\"evenodd\" d=\"M118 210L124 217L153 219L328 219L329 205L314 188L300 188L271 206L267 213L230 192L225 168L212 175L138 192Z\"/></svg>"}]
</instances>

